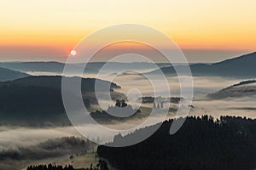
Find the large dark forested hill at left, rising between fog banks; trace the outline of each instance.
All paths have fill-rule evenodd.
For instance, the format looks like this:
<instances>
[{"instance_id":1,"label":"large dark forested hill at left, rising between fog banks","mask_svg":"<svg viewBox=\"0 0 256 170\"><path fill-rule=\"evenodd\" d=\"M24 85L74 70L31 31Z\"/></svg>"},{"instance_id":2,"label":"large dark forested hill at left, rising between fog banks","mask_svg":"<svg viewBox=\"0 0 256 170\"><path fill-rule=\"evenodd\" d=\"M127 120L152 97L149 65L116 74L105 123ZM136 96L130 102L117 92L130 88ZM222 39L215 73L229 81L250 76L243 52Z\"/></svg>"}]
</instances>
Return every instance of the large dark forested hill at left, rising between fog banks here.
<instances>
[{"instance_id":1,"label":"large dark forested hill at left, rising between fog banks","mask_svg":"<svg viewBox=\"0 0 256 170\"><path fill-rule=\"evenodd\" d=\"M69 125L62 104L61 78L26 77L12 82L0 82L0 124ZM95 81L94 78L82 79L81 92L86 107L96 104ZM109 85L107 81L99 80L99 82L102 85ZM119 86L112 82L110 90L113 91L113 88Z\"/></svg>"}]
</instances>

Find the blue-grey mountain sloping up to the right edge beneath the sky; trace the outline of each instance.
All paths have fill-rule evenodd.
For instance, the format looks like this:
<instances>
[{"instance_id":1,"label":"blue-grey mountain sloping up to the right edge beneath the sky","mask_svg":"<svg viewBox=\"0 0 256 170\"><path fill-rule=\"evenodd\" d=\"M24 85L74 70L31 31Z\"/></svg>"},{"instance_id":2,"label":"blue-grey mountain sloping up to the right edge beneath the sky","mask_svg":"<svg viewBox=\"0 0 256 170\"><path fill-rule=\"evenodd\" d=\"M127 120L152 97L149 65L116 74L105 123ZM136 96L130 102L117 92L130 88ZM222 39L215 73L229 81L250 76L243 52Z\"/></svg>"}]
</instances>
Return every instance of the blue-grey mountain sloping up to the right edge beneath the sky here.
<instances>
[{"instance_id":1,"label":"blue-grey mountain sloping up to the right edge beneath the sky","mask_svg":"<svg viewBox=\"0 0 256 170\"><path fill-rule=\"evenodd\" d=\"M234 59L226 59L212 65L207 64L193 64L190 69L193 76L219 76L219 77L256 77L256 52L252 54L245 54ZM183 65L176 67L181 72ZM169 76L176 76L175 69L170 67L163 67L160 69L164 74ZM150 71L148 74L157 74L159 70Z\"/></svg>"}]
</instances>

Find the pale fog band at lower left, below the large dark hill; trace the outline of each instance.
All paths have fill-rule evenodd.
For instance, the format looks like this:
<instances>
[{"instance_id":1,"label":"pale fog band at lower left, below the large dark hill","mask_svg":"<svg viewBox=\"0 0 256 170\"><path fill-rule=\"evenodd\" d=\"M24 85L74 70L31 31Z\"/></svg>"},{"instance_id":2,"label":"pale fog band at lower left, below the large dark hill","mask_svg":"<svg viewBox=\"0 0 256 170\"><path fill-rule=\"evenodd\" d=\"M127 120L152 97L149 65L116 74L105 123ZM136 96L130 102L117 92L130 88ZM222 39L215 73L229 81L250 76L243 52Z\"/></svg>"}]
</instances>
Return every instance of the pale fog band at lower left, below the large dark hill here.
<instances>
[{"instance_id":1,"label":"pale fog band at lower left, below the large dark hill","mask_svg":"<svg viewBox=\"0 0 256 170\"><path fill-rule=\"evenodd\" d=\"M137 128L144 127L141 125L147 117L143 119L132 119L127 122L112 122L102 124L106 129L103 131L97 124L86 123L75 127L51 127L51 128L32 128L32 127L0 127L0 152L1 150L18 149L39 144L48 139L61 137L78 137L90 139L97 143L105 143L113 140L113 136L118 133L125 135L131 133ZM150 117L145 126L155 124L164 120L165 117ZM108 131L112 129L112 131ZM127 131L123 131L127 130Z\"/></svg>"}]
</instances>

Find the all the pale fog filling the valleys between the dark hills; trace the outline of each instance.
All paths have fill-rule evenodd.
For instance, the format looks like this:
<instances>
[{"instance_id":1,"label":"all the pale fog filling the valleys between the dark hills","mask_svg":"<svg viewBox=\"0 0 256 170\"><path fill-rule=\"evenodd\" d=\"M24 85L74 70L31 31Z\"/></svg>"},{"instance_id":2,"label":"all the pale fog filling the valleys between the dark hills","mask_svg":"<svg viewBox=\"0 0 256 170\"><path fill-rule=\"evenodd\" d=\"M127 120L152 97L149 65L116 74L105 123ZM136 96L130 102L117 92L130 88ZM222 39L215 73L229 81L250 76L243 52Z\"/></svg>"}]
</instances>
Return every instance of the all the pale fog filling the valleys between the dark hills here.
<instances>
[{"instance_id":1,"label":"all the pale fog filling the valleys between the dark hills","mask_svg":"<svg viewBox=\"0 0 256 170\"><path fill-rule=\"evenodd\" d=\"M56 75L55 73L47 72L29 72L32 75ZM111 74L106 74L104 77L108 80L108 77ZM77 75L70 75L77 76ZM96 75L84 75L84 77L97 77ZM154 76L154 80L148 81L147 77L139 74L117 74L113 78L113 82L116 82L122 88L115 89L119 93L125 95L130 95L131 105L136 105L137 98L139 96L154 96L154 93L160 94L161 96L166 96L166 84L157 83L154 84L155 89L153 88L152 82L157 82L159 77ZM180 77L182 80L185 80L188 77ZM166 77L168 86L171 90L171 97L180 96L180 87L179 80L177 77ZM255 100L253 98L242 98L242 99L222 99L222 100L209 100L206 98L207 94L216 92L222 88L229 87L237 82L241 82L241 79L233 79L227 77L193 77L193 90L194 98L192 105L194 108L191 108L189 111L189 116L201 116L201 115L212 115L215 118L219 116L247 116L256 118L256 108ZM184 87L188 88L189 87ZM133 91L131 92L131 89ZM136 90L135 90L136 89ZM183 89L186 91L186 89ZM133 95L131 95L133 93ZM138 93L138 94L136 94ZM183 97L183 96L180 96ZM151 105L143 105L144 107L150 108ZM178 107L178 105L172 105ZM137 107L137 105L136 105ZM166 119L172 118L174 115L170 113ZM129 120L126 122L112 122L108 125L105 125L106 128L117 129L116 132L112 133L117 134L119 130L137 127L140 123L146 120L147 117L143 117L140 120ZM151 124L157 123L158 118L154 117L151 120ZM101 139L108 139L110 134L104 134L100 132L100 129L97 129L95 125L84 125L83 129L88 133L89 139L96 139L97 135ZM131 130L131 131L132 131ZM57 137L64 136L75 136L81 137L81 134L74 127L52 127L52 128L30 128L30 127L1 127L0 126L0 150L15 148L24 145L38 144L39 142L45 141L47 139L53 139ZM111 140L111 139L109 139Z\"/></svg>"}]
</instances>

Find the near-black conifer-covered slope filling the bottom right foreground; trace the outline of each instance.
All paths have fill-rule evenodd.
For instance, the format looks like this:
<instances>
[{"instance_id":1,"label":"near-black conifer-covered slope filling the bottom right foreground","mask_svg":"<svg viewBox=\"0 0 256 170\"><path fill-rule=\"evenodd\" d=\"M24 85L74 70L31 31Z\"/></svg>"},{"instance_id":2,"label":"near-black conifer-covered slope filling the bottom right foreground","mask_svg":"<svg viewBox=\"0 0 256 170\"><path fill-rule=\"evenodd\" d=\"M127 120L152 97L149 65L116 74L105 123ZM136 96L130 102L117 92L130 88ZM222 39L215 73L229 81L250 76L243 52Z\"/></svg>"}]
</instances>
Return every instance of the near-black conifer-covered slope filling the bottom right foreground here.
<instances>
[{"instance_id":1,"label":"near-black conifer-covered slope filling the bottom right foreground","mask_svg":"<svg viewBox=\"0 0 256 170\"><path fill-rule=\"evenodd\" d=\"M98 156L122 170L221 170L256 167L256 120L222 116L189 117L174 135L169 134L172 120L140 144L110 148L100 145ZM115 139L136 138L143 130Z\"/></svg>"}]
</instances>

